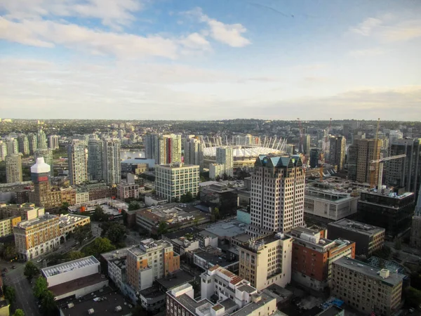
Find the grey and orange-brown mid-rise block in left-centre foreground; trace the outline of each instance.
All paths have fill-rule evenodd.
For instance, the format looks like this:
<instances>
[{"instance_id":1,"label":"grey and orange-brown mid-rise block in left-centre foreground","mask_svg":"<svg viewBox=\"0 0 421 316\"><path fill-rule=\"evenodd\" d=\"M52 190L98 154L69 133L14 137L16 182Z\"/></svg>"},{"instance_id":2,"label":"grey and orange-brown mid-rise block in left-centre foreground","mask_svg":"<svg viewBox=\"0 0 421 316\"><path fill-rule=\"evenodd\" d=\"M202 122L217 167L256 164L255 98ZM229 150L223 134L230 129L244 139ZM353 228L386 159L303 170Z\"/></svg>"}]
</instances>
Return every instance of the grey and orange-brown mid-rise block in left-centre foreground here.
<instances>
[{"instance_id":1,"label":"grey and orange-brown mid-rise block in left-centre foreground","mask_svg":"<svg viewBox=\"0 0 421 316\"><path fill-rule=\"evenodd\" d=\"M169 242L145 239L127 251L127 282L135 291L152 287L156 279L178 269L180 256L174 253L173 245Z\"/></svg>"}]
</instances>

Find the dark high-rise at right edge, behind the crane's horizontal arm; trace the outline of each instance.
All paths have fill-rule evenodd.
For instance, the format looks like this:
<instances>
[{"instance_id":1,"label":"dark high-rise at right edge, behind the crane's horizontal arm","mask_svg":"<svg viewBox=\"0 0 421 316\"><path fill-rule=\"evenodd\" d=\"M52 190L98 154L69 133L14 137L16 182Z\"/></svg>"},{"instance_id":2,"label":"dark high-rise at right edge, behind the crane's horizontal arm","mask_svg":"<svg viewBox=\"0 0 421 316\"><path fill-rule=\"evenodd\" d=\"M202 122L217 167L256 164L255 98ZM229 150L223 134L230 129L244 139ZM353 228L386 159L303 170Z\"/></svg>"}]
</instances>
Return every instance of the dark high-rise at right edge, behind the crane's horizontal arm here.
<instances>
[{"instance_id":1,"label":"dark high-rise at right edge, behind the crane's horizontal arm","mask_svg":"<svg viewBox=\"0 0 421 316\"><path fill-rule=\"evenodd\" d=\"M399 139L391 143L390 156L406 154L406 158L386 162L385 183L403 187L407 192L418 192L421 181L421 138Z\"/></svg>"}]
</instances>

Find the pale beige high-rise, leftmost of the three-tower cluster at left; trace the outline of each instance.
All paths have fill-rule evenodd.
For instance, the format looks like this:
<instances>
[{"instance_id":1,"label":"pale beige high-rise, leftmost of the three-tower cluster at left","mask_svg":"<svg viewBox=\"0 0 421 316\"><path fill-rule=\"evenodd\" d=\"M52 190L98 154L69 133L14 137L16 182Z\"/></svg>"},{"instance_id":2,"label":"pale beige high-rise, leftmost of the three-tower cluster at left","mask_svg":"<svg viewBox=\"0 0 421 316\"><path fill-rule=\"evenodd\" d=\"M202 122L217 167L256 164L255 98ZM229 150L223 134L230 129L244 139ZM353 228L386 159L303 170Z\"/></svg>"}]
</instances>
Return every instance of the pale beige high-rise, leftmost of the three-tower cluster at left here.
<instances>
[{"instance_id":1,"label":"pale beige high-rise, leftmost of the three-tower cluster at left","mask_svg":"<svg viewBox=\"0 0 421 316\"><path fill-rule=\"evenodd\" d=\"M72 140L67 145L70 185L77 185L88 180L87 150L83 140Z\"/></svg>"}]
</instances>

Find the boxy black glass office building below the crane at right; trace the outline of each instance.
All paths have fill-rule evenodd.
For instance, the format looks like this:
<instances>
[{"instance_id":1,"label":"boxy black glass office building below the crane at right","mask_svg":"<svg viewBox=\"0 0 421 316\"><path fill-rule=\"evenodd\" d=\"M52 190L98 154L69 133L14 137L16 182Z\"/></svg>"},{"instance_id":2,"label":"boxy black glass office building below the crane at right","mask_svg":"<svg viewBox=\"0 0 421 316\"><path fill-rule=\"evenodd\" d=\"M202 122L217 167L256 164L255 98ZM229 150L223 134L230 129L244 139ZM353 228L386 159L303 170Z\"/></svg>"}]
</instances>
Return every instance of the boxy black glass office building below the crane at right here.
<instances>
[{"instance_id":1,"label":"boxy black glass office building below the crane at right","mask_svg":"<svg viewBox=\"0 0 421 316\"><path fill-rule=\"evenodd\" d=\"M385 228L385 237L394 239L410 228L415 209L415 195L405 192L361 192L357 212L361 222Z\"/></svg>"}]
</instances>

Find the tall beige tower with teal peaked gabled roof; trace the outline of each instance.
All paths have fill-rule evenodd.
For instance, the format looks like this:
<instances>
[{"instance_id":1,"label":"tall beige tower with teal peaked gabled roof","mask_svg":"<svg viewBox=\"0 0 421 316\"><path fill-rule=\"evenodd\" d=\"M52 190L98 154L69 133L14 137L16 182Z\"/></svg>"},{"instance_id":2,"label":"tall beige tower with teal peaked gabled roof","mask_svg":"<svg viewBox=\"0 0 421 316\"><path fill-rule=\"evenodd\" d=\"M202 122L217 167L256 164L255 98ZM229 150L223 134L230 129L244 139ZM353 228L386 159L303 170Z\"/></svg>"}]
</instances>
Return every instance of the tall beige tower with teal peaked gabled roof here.
<instances>
[{"instance_id":1,"label":"tall beige tower with teal peaked gabled roof","mask_svg":"<svg viewBox=\"0 0 421 316\"><path fill-rule=\"evenodd\" d=\"M304 224L305 171L299 156L260 156L251 177L248 232L288 232Z\"/></svg>"}]
</instances>

